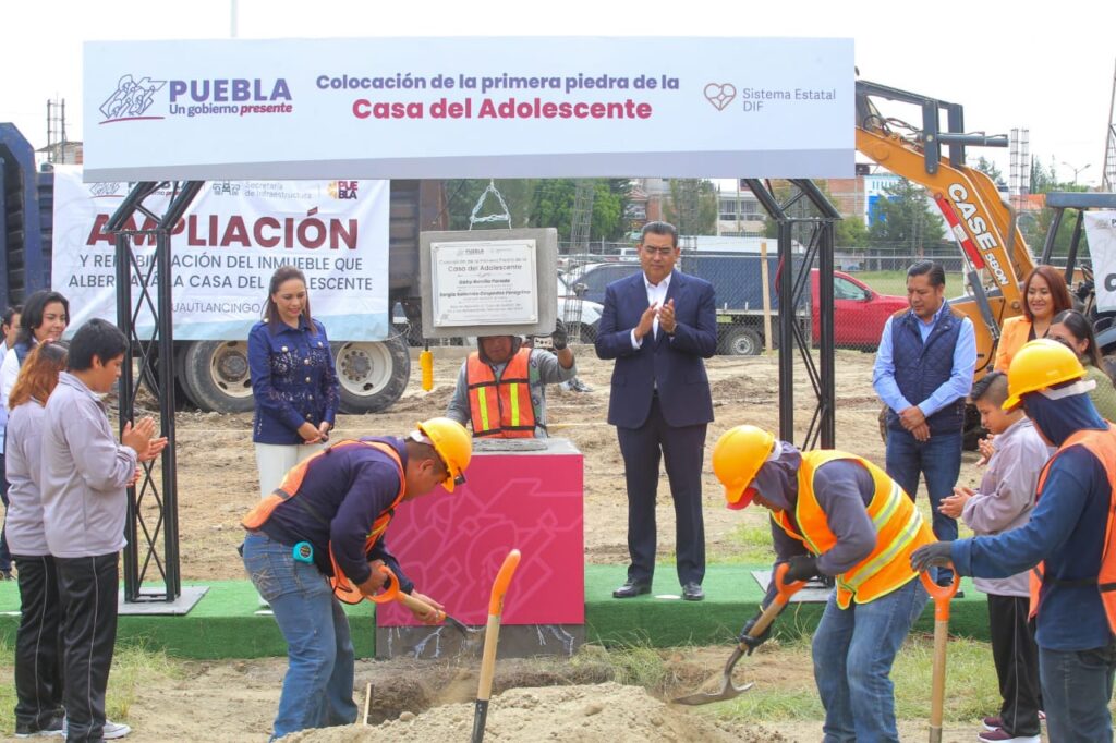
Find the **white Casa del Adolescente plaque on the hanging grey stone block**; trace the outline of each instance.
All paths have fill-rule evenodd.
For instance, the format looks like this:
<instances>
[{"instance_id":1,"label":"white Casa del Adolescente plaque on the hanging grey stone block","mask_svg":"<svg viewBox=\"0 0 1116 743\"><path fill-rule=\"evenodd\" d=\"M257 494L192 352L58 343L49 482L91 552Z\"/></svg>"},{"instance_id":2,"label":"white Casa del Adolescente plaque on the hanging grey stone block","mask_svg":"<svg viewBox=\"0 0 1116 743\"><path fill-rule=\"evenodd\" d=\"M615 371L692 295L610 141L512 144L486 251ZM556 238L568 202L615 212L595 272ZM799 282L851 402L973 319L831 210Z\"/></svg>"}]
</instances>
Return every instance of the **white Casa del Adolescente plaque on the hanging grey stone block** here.
<instances>
[{"instance_id":1,"label":"white Casa del Adolescente plaque on the hanging grey stone block","mask_svg":"<svg viewBox=\"0 0 1116 743\"><path fill-rule=\"evenodd\" d=\"M431 243L434 327L539 321L533 240Z\"/></svg>"}]
</instances>

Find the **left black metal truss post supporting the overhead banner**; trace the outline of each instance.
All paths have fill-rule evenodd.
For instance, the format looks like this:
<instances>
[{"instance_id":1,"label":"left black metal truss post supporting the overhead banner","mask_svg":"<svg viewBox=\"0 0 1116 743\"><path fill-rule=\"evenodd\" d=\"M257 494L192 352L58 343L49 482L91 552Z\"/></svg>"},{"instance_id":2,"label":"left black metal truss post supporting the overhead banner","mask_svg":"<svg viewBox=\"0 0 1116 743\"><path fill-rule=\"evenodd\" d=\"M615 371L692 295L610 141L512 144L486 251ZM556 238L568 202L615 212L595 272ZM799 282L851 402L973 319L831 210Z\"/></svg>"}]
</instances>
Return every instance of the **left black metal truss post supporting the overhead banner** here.
<instances>
[{"instance_id":1,"label":"left black metal truss post supporting the overhead banner","mask_svg":"<svg viewBox=\"0 0 1116 743\"><path fill-rule=\"evenodd\" d=\"M161 483L155 482L155 463L143 463L137 483L128 489L124 548L124 600L173 602L182 595L179 559L177 465L174 428L174 309L171 301L171 231L182 219L204 185L203 181L135 183L105 231L116 239L116 322L128 340L127 358L136 359L140 374L125 364L117 386L119 392L119 425L134 419L136 395L145 384L158 402L160 435L166 436L163 450ZM144 202L160 191L170 192L171 200L160 215ZM146 218L142 224L153 228L127 229L134 215ZM154 259L143 264L133 250L135 238L154 241ZM135 282L133 284L133 282ZM133 286L138 295L133 301ZM151 337L141 338L136 329L140 316L147 309L154 318ZM150 499L150 500L148 500ZM144 506L153 505L153 514L144 517ZM158 544L162 541L162 556ZM154 566L163 588L143 591L144 581Z\"/></svg>"}]
</instances>

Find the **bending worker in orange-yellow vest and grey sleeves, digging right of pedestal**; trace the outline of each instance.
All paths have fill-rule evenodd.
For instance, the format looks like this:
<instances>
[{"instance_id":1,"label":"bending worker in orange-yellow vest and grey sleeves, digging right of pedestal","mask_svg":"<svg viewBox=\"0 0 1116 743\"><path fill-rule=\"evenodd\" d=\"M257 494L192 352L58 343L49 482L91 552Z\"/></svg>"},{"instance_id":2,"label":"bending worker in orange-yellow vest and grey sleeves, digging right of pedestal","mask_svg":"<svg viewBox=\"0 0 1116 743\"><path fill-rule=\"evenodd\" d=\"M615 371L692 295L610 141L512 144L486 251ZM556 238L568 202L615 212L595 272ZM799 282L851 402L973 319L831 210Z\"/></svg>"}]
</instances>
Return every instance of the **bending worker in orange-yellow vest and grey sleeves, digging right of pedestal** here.
<instances>
[{"instance_id":1,"label":"bending worker in orange-yellow vest and grey sleeves, digging right of pedestal","mask_svg":"<svg viewBox=\"0 0 1116 743\"><path fill-rule=\"evenodd\" d=\"M837 451L799 452L756 426L725 432L713 471L730 509L771 510L775 570L785 582L833 576L837 587L814 635L814 677L826 708L826 741L898 741L892 663L929 596L911 552L934 541L914 503L870 462ZM775 581L763 599L775 598ZM759 614L740 633L752 638Z\"/></svg>"}]
</instances>

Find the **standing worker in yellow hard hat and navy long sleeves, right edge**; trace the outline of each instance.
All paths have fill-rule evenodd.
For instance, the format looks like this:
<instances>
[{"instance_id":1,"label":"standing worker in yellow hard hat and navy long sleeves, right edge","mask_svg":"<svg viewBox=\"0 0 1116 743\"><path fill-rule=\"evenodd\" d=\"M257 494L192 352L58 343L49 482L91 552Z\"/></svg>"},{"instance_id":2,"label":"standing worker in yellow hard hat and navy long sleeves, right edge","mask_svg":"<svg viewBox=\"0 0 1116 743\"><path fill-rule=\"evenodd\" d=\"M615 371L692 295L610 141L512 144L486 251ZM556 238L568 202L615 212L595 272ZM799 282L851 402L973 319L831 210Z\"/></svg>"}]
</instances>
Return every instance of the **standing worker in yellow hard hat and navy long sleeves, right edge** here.
<instances>
[{"instance_id":1,"label":"standing worker in yellow hard hat and navy long sleeves, right edge","mask_svg":"<svg viewBox=\"0 0 1116 743\"><path fill-rule=\"evenodd\" d=\"M994 537L915 550L915 570L952 565L962 576L1031 570L1031 616L1050 741L1110 743L1116 676L1116 432L1100 417L1085 368L1046 338L1026 344L1008 368L1003 409L1020 405L1058 451L1039 475L1030 521ZM1007 740L1007 739L1006 739ZM1021 739L1014 739L1021 740Z\"/></svg>"}]
</instances>

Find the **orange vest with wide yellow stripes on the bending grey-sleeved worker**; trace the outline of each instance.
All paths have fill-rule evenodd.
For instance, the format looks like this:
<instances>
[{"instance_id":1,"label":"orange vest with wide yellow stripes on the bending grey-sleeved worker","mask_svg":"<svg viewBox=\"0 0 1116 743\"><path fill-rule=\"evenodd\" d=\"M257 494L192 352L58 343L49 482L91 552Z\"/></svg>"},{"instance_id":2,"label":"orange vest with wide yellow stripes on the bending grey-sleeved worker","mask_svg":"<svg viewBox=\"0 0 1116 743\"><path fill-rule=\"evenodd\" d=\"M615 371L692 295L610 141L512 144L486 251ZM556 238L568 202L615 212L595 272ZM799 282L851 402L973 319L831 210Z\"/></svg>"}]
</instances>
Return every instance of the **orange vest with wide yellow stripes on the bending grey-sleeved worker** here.
<instances>
[{"instance_id":1,"label":"orange vest with wide yellow stripes on the bending grey-sleeved worker","mask_svg":"<svg viewBox=\"0 0 1116 743\"><path fill-rule=\"evenodd\" d=\"M867 505L868 518L876 528L876 547L868 557L837 576L837 605L847 609L849 602L867 604L898 590L918 573L911 569L911 552L934 540L930 527L898 484L872 462L854 454L833 451L804 452L798 467L798 504L795 521L786 511L772 511L771 518L790 537L821 554L837 543L829 530L825 511L814 492L814 475L827 462L852 460L872 474L876 492ZM799 531L800 530L800 531Z\"/></svg>"}]
</instances>

